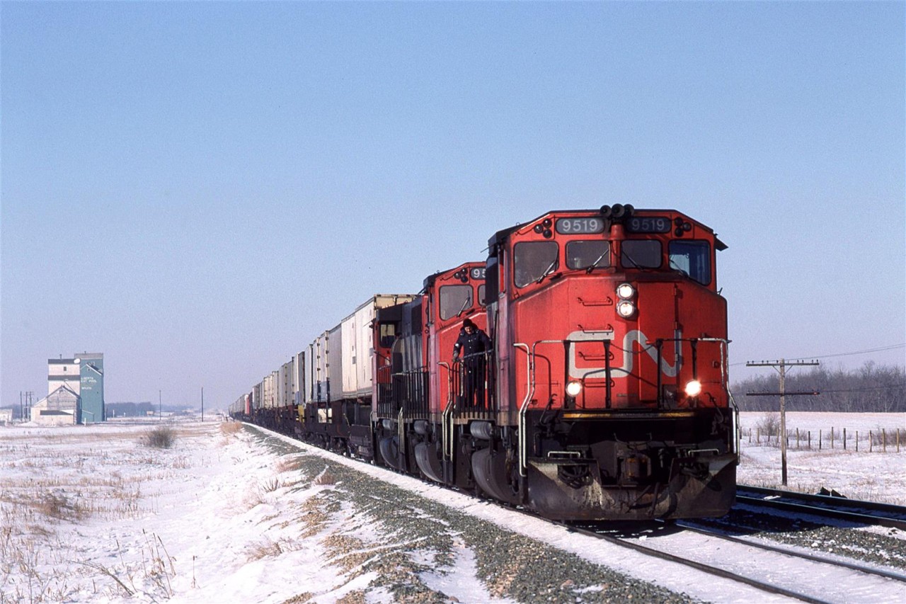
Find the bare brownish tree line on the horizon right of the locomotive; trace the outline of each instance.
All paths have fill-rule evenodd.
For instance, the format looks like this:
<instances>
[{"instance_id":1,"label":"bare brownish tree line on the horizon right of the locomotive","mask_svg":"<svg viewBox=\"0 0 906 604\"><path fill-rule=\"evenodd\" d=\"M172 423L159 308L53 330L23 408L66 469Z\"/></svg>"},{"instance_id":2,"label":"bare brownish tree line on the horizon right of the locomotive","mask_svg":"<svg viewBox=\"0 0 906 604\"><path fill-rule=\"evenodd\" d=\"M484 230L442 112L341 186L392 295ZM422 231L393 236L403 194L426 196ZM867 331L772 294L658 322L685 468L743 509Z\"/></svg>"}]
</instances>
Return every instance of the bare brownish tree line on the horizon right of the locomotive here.
<instances>
[{"instance_id":1,"label":"bare brownish tree line on the horizon right of the locomotive","mask_svg":"<svg viewBox=\"0 0 906 604\"><path fill-rule=\"evenodd\" d=\"M757 375L733 382L730 390L741 411L777 411L779 396L747 396L748 393L780 392L780 375ZM869 361L859 369L828 370L813 367L786 370L786 392L819 395L786 397L787 411L844 411L859 413L906 412L906 370L875 365Z\"/></svg>"}]
</instances>

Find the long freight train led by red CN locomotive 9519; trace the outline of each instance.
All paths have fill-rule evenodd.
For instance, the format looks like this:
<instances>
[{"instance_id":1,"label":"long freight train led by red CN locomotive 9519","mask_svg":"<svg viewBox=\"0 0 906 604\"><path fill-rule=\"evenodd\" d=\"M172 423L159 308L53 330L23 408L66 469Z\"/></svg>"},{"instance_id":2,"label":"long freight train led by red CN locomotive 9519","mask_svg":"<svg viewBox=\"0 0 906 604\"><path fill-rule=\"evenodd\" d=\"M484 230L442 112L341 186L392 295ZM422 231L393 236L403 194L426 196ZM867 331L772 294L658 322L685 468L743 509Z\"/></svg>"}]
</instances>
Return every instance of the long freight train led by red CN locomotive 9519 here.
<instances>
[{"instance_id":1,"label":"long freight train led by red CN locomotive 9519","mask_svg":"<svg viewBox=\"0 0 906 604\"><path fill-rule=\"evenodd\" d=\"M673 209L548 212L417 295L371 297L231 414L546 518L723 515L724 248ZM490 346L454 356L466 323Z\"/></svg>"}]
</instances>

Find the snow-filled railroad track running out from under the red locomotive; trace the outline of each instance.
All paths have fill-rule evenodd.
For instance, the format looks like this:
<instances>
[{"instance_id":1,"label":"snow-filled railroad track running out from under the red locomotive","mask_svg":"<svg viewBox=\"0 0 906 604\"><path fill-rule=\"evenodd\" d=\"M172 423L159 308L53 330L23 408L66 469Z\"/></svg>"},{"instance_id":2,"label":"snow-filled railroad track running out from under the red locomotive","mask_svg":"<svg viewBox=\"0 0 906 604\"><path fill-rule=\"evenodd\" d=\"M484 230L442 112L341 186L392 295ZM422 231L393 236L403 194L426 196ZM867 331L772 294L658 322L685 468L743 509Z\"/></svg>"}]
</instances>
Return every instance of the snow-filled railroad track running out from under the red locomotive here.
<instances>
[{"instance_id":1,"label":"snow-filled railroad track running out from under the red locomotive","mask_svg":"<svg viewBox=\"0 0 906 604\"><path fill-rule=\"evenodd\" d=\"M615 531L612 523L565 526L645 555L804 602L906 601L906 573L685 523L649 524L633 531ZM860 593L853 593L852 585L859 585Z\"/></svg>"}]
</instances>

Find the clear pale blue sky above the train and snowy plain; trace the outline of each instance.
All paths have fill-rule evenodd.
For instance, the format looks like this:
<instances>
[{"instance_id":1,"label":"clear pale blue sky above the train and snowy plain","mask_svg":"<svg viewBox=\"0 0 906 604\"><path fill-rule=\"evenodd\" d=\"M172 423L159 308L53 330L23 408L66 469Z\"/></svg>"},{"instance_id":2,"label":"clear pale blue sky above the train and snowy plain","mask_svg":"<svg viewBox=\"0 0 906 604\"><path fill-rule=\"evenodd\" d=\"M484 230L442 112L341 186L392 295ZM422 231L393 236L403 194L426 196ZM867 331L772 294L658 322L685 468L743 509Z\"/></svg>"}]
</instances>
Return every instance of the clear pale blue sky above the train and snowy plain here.
<instances>
[{"instance_id":1,"label":"clear pale blue sky above the train and snowy plain","mask_svg":"<svg viewBox=\"0 0 906 604\"><path fill-rule=\"evenodd\" d=\"M906 342L904 4L12 3L2 400L225 407L548 209L718 231L733 375ZM903 365L904 348L827 365Z\"/></svg>"}]
</instances>

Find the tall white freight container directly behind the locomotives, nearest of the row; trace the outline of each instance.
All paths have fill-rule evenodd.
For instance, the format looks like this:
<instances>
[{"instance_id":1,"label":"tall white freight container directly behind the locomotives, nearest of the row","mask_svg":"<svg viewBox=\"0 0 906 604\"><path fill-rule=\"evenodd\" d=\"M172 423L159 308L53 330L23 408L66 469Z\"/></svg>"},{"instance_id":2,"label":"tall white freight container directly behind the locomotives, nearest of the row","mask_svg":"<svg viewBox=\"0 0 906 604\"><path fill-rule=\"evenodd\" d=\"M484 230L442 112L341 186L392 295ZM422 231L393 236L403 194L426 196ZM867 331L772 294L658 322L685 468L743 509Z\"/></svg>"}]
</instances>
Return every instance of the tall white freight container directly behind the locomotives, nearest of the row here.
<instances>
[{"instance_id":1,"label":"tall white freight container directly behind the locomotives, nearest of the row","mask_svg":"<svg viewBox=\"0 0 906 604\"><path fill-rule=\"evenodd\" d=\"M371 324L378 308L410 302L411 294L377 294L342 320L342 396L371 396L374 340Z\"/></svg>"}]
</instances>

